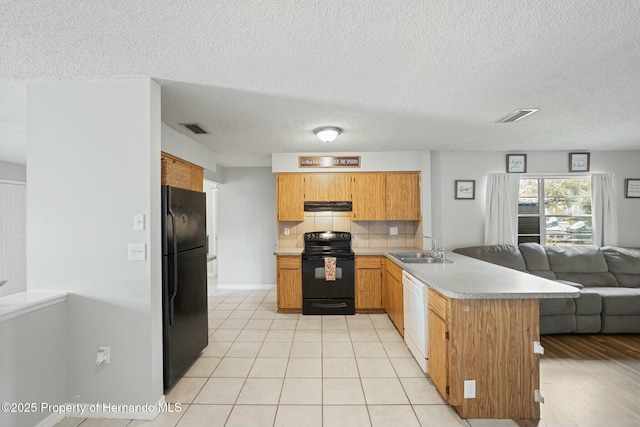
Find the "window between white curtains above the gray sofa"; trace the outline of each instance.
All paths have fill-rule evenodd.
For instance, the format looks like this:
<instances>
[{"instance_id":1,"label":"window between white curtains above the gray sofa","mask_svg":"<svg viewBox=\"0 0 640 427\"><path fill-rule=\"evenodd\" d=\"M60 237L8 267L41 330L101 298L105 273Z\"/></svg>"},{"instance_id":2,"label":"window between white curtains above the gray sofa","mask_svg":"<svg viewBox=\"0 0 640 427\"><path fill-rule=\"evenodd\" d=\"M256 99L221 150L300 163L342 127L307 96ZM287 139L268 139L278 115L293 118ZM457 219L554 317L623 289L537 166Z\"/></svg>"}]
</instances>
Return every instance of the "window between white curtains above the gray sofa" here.
<instances>
[{"instance_id":1,"label":"window between white curtains above the gray sofa","mask_svg":"<svg viewBox=\"0 0 640 427\"><path fill-rule=\"evenodd\" d=\"M518 243L593 244L591 178L521 178Z\"/></svg>"}]
</instances>

